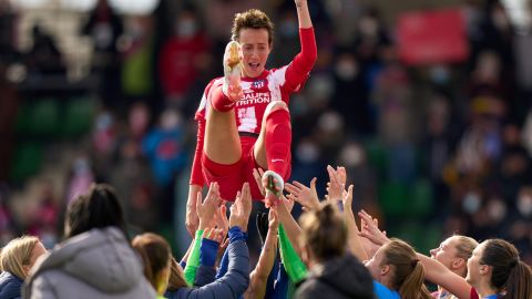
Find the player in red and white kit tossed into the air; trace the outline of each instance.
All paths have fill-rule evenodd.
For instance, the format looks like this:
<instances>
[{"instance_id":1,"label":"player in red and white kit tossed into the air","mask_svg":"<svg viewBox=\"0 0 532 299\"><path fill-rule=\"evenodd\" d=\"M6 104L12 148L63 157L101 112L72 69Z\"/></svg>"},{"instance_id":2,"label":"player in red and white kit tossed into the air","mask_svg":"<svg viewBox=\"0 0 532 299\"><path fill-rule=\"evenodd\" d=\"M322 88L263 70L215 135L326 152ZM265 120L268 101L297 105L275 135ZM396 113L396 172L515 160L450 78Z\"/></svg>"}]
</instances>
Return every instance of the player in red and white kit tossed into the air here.
<instances>
[{"instance_id":1,"label":"player in red and white kit tossed into the air","mask_svg":"<svg viewBox=\"0 0 532 299\"><path fill-rule=\"evenodd\" d=\"M205 183L217 182L223 199L232 200L253 169L263 168L266 206L275 205L290 175L291 127L288 101L299 92L317 59L307 0L295 0L300 52L288 65L265 69L274 24L262 11L237 13L224 54L224 76L205 87L196 112L197 146L191 174L186 225L197 227L195 202ZM255 184L254 199L263 198Z\"/></svg>"}]
</instances>

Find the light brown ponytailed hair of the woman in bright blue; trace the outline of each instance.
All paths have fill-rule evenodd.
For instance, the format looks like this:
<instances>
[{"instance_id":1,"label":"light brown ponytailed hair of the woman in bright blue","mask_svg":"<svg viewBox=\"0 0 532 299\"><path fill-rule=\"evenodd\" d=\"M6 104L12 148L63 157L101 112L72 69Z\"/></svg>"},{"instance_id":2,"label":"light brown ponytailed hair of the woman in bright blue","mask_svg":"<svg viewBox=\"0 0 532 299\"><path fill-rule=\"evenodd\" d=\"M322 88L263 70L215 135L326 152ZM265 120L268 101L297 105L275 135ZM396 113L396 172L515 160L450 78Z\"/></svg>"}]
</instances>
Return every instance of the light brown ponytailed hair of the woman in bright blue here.
<instances>
[{"instance_id":1,"label":"light brown ponytailed hair of the woman in bright blue","mask_svg":"<svg viewBox=\"0 0 532 299\"><path fill-rule=\"evenodd\" d=\"M424 268L413 248L400 239L391 239L382 247L382 265L392 268L391 283L402 299L432 298L423 285Z\"/></svg>"}]
</instances>

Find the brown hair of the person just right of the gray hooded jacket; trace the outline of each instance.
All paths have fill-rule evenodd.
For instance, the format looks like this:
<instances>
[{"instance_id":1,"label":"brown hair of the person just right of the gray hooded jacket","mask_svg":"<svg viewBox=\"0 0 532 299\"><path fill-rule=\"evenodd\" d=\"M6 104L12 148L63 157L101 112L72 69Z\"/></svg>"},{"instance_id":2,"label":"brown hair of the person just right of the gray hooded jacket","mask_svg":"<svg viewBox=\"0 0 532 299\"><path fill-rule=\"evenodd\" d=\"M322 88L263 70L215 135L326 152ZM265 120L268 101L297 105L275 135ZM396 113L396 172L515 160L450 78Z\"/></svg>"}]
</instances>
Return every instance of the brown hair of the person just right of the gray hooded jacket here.
<instances>
[{"instance_id":1,"label":"brown hair of the person just right of the gray hooded jacket","mask_svg":"<svg viewBox=\"0 0 532 299\"><path fill-rule=\"evenodd\" d=\"M168 243L158 235L145 233L133 238L131 245L142 257L144 276L158 290L157 276L170 266L172 258Z\"/></svg>"}]
</instances>

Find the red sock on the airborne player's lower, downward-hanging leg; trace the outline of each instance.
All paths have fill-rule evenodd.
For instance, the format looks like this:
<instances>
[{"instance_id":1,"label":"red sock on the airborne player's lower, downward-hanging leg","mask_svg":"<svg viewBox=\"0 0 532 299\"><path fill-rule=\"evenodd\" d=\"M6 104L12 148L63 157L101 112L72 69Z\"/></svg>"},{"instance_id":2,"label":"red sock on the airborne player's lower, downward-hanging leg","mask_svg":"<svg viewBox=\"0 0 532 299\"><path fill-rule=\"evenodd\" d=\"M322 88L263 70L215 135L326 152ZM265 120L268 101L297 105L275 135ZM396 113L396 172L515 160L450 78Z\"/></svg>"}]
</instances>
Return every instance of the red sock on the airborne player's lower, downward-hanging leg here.
<instances>
[{"instance_id":1,"label":"red sock on the airborne player's lower, downward-hanging leg","mask_svg":"<svg viewBox=\"0 0 532 299\"><path fill-rule=\"evenodd\" d=\"M291 126L290 114L277 109L266 116L266 158L268 169L288 178L290 163Z\"/></svg>"}]
</instances>

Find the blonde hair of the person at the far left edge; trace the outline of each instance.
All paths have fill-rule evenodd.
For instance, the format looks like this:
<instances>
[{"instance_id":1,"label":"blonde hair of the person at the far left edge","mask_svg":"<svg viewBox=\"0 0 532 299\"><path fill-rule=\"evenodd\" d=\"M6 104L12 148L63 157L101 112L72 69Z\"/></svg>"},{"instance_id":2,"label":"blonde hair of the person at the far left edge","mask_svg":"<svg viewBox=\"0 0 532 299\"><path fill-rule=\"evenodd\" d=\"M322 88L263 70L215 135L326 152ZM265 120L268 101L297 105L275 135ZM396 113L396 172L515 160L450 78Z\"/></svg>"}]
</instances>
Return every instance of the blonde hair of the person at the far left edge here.
<instances>
[{"instance_id":1,"label":"blonde hair of the person at the far left edge","mask_svg":"<svg viewBox=\"0 0 532 299\"><path fill-rule=\"evenodd\" d=\"M0 270L25 279L28 275L23 266L30 266L31 254L38 243L39 239L33 236L12 239L0 251Z\"/></svg>"}]
</instances>

